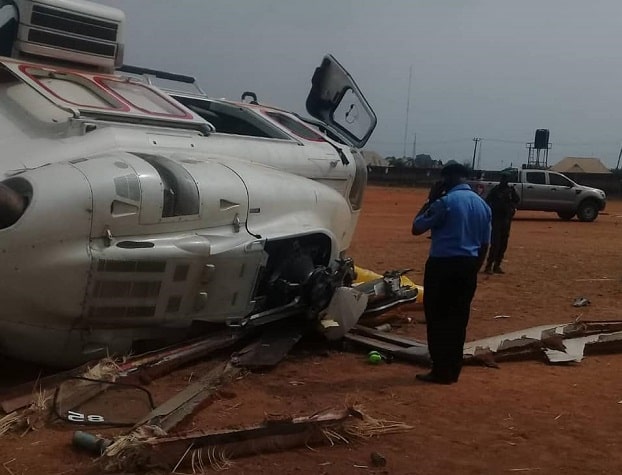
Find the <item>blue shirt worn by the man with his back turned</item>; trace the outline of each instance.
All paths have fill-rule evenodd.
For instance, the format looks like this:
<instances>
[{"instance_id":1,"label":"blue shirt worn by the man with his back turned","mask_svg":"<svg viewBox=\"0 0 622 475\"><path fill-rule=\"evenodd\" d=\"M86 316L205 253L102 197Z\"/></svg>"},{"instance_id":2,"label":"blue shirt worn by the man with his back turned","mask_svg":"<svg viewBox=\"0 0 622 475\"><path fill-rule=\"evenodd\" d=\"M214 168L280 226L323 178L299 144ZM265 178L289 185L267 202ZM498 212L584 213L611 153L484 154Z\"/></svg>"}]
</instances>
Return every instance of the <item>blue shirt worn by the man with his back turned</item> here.
<instances>
[{"instance_id":1,"label":"blue shirt worn by the man with his back turned","mask_svg":"<svg viewBox=\"0 0 622 475\"><path fill-rule=\"evenodd\" d=\"M431 257L477 257L490 244L491 217L490 207L465 183L434 201L413 224L432 231Z\"/></svg>"}]
</instances>

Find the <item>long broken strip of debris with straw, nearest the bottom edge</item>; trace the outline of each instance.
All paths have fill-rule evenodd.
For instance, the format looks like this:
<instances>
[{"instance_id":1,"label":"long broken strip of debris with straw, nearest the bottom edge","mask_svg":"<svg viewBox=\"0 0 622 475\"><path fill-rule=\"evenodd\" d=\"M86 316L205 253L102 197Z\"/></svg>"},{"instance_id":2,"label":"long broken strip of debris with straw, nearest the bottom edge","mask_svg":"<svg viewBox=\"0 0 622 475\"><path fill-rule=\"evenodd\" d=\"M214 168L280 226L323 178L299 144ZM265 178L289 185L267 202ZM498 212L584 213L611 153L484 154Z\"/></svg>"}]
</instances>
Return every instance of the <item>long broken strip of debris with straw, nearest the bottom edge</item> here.
<instances>
[{"instance_id":1,"label":"long broken strip of debris with straw, nearest the bottom edge","mask_svg":"<svg viewBox=\"0 0 622 475\"><path fill-rule=\"evenodd\" d=\"M174 436L146 433L118 438L100 459L106 472L166 467L221 468L236 458L312 445L348 443L412 429L382 421L349 407L307 417L270 416L261 424L238 430L194 431Z\"/></svg>"}]
</instances>

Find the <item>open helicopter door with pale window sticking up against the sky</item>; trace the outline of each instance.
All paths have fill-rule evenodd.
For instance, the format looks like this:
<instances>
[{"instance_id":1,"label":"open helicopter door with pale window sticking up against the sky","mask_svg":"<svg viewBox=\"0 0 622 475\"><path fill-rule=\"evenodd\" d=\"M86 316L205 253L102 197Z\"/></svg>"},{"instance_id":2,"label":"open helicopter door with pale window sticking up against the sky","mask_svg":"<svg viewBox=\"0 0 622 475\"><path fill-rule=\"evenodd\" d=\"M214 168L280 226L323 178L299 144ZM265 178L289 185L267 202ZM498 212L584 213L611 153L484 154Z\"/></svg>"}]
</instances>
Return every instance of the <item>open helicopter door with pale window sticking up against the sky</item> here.
<instances>
[{"instance_id":1,"label":"open helicopter door with pale window sticking up against the sky","mask_svg":"<svg viewBox=\"0 0 622 475\"><path fill-rule=\"evenodd\" d=\"M327 129L351 146L365 146L378 122L354 79L330 54L311 80L306 107Z\"/></svg>"}]
</instances>

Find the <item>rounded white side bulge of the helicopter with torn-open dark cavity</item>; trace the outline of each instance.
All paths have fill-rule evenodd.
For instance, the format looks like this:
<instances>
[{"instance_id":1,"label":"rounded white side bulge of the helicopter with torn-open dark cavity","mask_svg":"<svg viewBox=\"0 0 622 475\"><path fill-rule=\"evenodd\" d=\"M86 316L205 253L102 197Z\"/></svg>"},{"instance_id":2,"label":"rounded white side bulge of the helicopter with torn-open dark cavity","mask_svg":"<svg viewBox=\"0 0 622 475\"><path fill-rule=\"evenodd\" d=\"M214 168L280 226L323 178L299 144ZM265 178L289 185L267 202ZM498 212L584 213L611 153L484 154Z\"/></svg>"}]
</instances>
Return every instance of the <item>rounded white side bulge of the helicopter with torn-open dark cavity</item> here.
<instances>
[{"instance_id":1,"label":"rounded white side bulge of the helicopter with torn-open dark cavity","mask_svg":"<svg viewBox=\"0 0 622 475\"><path fill-rule=\"evenodd\" d=\"M3 216L0 352L71 366L297 297L317 315L350 212L273 168L112 152L5 180Z\"/></svg>"}]
</instances>

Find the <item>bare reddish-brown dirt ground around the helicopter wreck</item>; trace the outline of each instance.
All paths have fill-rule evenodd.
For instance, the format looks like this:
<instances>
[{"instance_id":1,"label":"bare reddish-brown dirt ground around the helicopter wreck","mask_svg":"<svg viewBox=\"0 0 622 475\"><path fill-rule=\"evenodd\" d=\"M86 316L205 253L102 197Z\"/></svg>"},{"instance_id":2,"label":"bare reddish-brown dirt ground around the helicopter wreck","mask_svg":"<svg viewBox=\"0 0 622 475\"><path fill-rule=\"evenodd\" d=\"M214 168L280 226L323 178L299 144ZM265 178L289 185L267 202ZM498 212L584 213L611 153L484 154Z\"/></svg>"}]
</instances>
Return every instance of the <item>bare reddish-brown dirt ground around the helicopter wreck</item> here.
<instances>
[{"instance_id":1,"label":"bare reddish-brown dirt ground around the helicopter wreck","mask_svg":"<svg viewBox=\"0 0 622 475\"><path fill-rule=\"evenodd\" d=\"M424 197L423 190L368 189L351 247L358 265L376 271L413 267L413 280L422 280L429 241L411 236L410 224ZM607 213L594 223L519 212L507 274L479 279L469 339L577 316L620 317L621 223L621 202L609 203ZM588 297L591 306L574 308L579 296ZM395 313L414 317L415 323L404 324L400 332L424 337L425 325L417 323L419 310L402 307ZM249 425L266 413L309 415L355 400L371 415L403 421L413 429L350 445L241 459L228 473L620 473L621 366L622 355L589 356L570 366L504 363L500 369L467 367L458 384L429 386L415 382L421 369L412 365L371 366L361 354L297 351L273 371L251 374L229 386L232 397L215 400L187 428ZM181 390L205 367L199 364L154 382L150 390L156 402ZM90 458L70 447L75 428L60 427L0 439L0 474L93 473ZM386 467L371 467L373 451L386 457Z\"/></svg>"}]
</instances>

